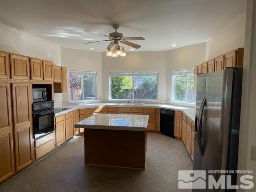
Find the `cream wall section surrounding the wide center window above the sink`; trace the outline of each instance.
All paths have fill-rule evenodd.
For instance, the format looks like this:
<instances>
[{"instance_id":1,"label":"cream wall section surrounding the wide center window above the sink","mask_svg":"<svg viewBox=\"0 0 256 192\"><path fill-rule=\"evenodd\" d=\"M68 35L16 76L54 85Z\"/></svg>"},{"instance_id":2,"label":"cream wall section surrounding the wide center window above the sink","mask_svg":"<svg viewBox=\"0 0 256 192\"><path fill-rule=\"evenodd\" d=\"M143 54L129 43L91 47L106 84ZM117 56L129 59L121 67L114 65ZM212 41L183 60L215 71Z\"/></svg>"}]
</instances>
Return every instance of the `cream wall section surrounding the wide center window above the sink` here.
<instances>
[{"instance_id":1,"label":"cream wall section surrounding the wide center window above the sink","mask_svg":"<svg viewBox=\"0 0 256 192\"><path fill-rule=\"evenodd\" d=\"M112 58L102 53L102 98L109 99L109 72L158 71L158 99L166 100L166 51L127 52L126 57ZM115 66L115 67L114 67Z\"/></svg>"}]
</instances>

